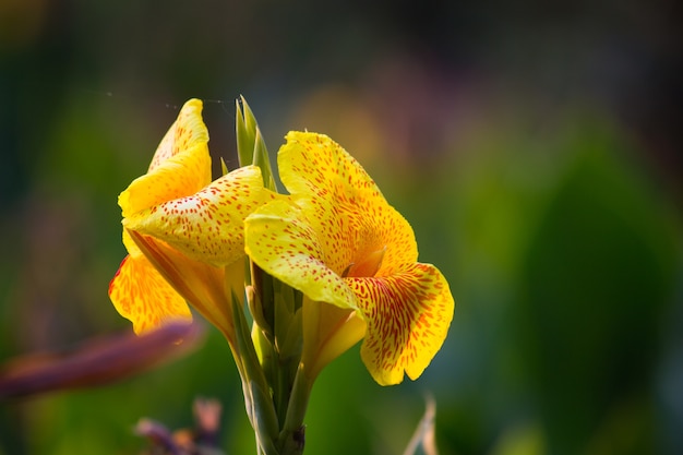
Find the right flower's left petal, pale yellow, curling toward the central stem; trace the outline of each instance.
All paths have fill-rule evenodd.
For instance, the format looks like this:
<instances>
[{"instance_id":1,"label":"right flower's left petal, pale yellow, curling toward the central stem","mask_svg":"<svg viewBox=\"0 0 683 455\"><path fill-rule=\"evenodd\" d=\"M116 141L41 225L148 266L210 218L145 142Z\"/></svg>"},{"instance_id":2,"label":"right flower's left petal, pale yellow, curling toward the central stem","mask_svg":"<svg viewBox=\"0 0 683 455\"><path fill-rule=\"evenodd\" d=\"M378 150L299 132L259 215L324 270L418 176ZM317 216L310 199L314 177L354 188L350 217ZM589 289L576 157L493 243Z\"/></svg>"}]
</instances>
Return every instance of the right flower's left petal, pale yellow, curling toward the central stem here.
<instances>
[{"instance_id":1,"label":"right flower's left petal, pale yellow, curling toward the central stem","mask_svg":"<svg viewBox=\"0 0 683 455\"><path fill-rule=\"evenodd\" d=\"M290 201L271 202L244 223L247 254L267 274L312 300L356 308L354 292L327 266L324 242L311 224Z\"/></svg>"}]
</instances>

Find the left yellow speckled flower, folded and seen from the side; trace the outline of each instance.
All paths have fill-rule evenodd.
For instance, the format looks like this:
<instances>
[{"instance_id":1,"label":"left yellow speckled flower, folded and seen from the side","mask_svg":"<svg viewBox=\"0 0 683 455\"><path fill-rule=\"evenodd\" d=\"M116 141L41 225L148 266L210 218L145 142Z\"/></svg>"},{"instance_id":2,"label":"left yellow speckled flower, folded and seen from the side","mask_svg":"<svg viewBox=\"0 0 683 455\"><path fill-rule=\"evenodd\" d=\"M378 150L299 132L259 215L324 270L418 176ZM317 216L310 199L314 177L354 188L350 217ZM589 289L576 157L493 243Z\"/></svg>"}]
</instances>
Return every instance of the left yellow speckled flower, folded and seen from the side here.
<instances>
[{"instance_id":1,"label":"left yellow speckled flower, folded and seen from the side","mask_svg":"<svg viewBox=\"0 0 683 455\"><path fill-rule=\"evenodd\" d=\"M196 99L182 107L147 173L119 195L129 255L109 296L135 333L190 321L188 301L233 342L230 289L243 287L243 220L274 194L254 166L212 182L201 110Z\"/></svg>"}]
</instances>

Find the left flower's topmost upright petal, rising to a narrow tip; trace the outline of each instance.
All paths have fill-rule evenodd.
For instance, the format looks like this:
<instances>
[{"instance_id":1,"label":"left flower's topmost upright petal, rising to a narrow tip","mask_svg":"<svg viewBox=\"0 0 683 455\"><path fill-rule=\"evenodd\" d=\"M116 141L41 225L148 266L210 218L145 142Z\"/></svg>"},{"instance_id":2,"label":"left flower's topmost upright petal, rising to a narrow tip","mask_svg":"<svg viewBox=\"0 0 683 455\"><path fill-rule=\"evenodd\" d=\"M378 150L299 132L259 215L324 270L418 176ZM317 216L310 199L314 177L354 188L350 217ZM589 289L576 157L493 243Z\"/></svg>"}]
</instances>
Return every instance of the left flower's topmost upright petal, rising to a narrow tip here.
<instances>
[{"instance_id":1,"label":"left flower's topmost upright petal, rising to a narrow tip","mask_svg":"<svg viewBox=\"0 0 683 455\"><path fill-rule=\"evenodd\" d=\"M194 99L181 109L149 165L149 171L119 195L123 217L161 202L189 196L211 182L208 132Z\"/></svg>"}]
</instances>

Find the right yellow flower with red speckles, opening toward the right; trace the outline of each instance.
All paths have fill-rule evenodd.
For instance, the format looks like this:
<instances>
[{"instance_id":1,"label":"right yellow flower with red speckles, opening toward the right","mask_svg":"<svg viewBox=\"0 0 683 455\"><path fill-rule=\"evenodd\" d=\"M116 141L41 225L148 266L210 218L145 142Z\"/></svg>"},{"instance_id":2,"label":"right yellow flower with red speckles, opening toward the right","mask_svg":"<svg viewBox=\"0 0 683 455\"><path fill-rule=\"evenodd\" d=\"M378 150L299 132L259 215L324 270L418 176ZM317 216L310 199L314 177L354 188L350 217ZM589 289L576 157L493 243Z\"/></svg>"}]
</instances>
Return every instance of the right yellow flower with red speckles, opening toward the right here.
<instances>
[{"instance_id":1,"label":"right yellow flower with red speckles, opening toward the right","mask_svg":"<svg viewBox=\"0 0 683 455\"><path fill-rule=\"evenodd\" d=\"M304 369L315 378L363 338L361 358L378 383L417 379L453 318L447 282L417 262L412 228L344 148L322 134L286 139L278 167L291 196L247 218L245 249L307 296Z\"/></svg>"}]
</instances>

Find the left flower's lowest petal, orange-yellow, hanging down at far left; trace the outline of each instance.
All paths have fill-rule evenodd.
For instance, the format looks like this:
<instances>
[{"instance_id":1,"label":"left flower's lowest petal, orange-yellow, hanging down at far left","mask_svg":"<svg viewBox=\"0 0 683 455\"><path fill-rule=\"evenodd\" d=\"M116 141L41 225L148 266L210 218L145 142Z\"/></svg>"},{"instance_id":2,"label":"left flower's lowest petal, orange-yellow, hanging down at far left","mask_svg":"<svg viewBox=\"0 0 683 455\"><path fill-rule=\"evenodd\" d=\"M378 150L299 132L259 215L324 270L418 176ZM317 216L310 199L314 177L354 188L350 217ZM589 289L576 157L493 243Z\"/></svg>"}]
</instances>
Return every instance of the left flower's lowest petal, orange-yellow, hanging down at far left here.
<instances>
[{"instance_id":1,"label":"left flower's lowest petal, orange-yellow, hanging down at far left","mask_svg":"<svg viewBox=\"0 0 683 455\"><path fill-rule=\"evenodd\" d=\"M143 334L166 323L192 321L184 299L144 258L125 256L109 284L109 298L117 311Z\"/></svg>"}]
</instances>

